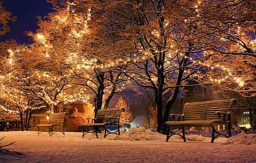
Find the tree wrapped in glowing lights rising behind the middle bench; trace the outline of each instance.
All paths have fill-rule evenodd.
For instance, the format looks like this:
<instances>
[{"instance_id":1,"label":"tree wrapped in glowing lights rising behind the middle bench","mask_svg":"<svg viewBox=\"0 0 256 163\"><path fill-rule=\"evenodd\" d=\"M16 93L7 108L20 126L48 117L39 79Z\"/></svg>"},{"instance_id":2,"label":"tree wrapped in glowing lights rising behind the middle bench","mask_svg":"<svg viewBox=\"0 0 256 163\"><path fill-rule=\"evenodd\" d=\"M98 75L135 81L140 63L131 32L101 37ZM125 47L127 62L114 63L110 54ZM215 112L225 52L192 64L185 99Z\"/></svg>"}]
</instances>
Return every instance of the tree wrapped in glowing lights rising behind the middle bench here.
<instances>
[{"instance_id":1,"label":"tree wrapped in glowing lights rising behind the middle bench","mask_svg":"<svg viewBox=\"0 0 256 163\"><path fill-rule=\"evenodd\" d=\"M40 51L32 53L52 60L54 66L51 67L61 72L60 77L72 77L67 84L80 87L90 97L95 97L96 111L102 108L103 95L108 92L103 107L107 109L114 93L123 89L123 85L118 84L123 81L123 68L114 67L117 49L107 47L106 40L96 37L100 27L96 22L97 14L91 20L89 5L63 3L63 8L52 3L57 12L49 14L47 20L39 19L40 28L36 34L28 33L36 42L36 51Z\"/></svg>"}]
</instances>

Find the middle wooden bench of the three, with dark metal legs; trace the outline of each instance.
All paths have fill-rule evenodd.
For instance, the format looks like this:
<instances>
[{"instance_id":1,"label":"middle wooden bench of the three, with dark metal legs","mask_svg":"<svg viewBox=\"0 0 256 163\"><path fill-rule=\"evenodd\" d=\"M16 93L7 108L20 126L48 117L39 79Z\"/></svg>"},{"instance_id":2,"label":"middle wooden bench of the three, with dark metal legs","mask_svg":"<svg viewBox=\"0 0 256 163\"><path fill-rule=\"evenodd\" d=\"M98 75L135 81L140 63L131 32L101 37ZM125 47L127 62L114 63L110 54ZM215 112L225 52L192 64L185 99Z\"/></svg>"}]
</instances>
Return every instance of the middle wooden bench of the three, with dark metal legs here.
<instances>
[{"instance_id":1,"label":"middle wooden bench of the three, with dark metal legs","mask_svg":"<svg viewBox=\"0 0 256 163\"><path fill-rule=\"evenodd\" d=\"M98 137L98 132L99 128L104 128L105 129L105 134L104 138L113 133L117 134L116 132L118 131L117 135L120 135L120 114L123 112L124 109L102 109L98 110L96 118L87 118L88 123L83 123L83 136L88 133L95 134L96 137ZM91 120L91 123L89 123ZM117 130L114 132L111 132L109 129L107 129L107 126L117 126ZM94 128L93 131L86 131L85 128ZM108 132L108 134L107 134Z\"/></svg>"}]
</instances>

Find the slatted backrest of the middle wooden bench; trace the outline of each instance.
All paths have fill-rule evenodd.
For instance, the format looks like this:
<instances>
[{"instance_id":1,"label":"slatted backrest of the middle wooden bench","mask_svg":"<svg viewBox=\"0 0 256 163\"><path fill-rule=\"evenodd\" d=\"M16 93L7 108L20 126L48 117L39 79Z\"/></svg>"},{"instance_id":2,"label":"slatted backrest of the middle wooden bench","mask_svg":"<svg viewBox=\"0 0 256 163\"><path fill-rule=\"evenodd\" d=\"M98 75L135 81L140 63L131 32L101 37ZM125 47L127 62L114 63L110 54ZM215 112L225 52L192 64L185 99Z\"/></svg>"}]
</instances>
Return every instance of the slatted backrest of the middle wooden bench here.
<instances>
[{"instance_id":1,"label":"slatted backrest of the middle wooden bench","mask_svg":"<svg viewBox=\"0 0 256 163\"><path fill-rule=\"evenodd\" d=\"M98 110L96 120L94 123L109 123L110 118L120 118L121 112L124 111L123 108L120 109L101 109ZM116 121L116 123L118 123Z\"/></svg>"}]
</instances>

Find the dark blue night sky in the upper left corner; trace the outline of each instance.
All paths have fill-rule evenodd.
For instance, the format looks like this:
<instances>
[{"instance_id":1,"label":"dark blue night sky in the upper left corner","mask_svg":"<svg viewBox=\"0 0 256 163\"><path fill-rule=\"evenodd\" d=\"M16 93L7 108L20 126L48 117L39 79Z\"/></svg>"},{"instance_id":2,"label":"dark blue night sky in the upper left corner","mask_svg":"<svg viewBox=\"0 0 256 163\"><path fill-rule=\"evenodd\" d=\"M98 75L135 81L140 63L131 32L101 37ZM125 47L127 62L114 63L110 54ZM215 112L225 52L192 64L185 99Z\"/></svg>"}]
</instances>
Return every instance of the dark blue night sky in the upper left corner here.
<instances>
[{"instance_id":1,"label":"dark blue night sky in the upper left corner","mask_svg":"<svg viewBox=\"0 0 256 163\"><path fill-rule=\"evenodd\" d=\"M37 16L47 16L52 10L52 4L46 0L1 0L8 11L17 16L16 22L10 22L10 32L0 36L0 41L14 39L18 43L30 43L31 39L23 33L26 31L36 32L38 29Z\"/></svg>"}]
</instances>

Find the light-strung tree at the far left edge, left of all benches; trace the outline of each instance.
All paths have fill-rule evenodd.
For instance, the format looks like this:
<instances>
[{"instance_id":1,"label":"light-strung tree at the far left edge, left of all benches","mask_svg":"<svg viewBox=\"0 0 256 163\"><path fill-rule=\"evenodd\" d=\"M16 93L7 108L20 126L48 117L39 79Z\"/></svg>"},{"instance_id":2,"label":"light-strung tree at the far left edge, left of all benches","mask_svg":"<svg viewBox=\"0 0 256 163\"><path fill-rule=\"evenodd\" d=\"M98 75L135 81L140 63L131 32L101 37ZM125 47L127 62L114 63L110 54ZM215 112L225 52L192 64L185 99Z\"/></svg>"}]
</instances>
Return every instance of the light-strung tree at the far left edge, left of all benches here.
<instances>
[{"instance_id":1,"label":"light-strung tree at the far left edge, left of all benches","mask_svg":"<svg viewBox=\"0 0 256 163\"><path fill-rule=\"evenodd\" d=\"M27 92L29 87L34 86L33 78L29 78L33 73L29 68L33 65L33 62L28 64L31 56L18 55L11 49L7 50L10 47L22 48L12 42L12 44L10 43L2 49L2 54L5 54L1 60L3 67L0 76L0 106L5 113L20 115L22 130L28 130L32 110L38 109L40 105L40 102L35 102L33 96ZM9 54L7 54L7 51L9 51ZM25 121L23 122L23 120Z\"/></svg>"}]
</instances>

